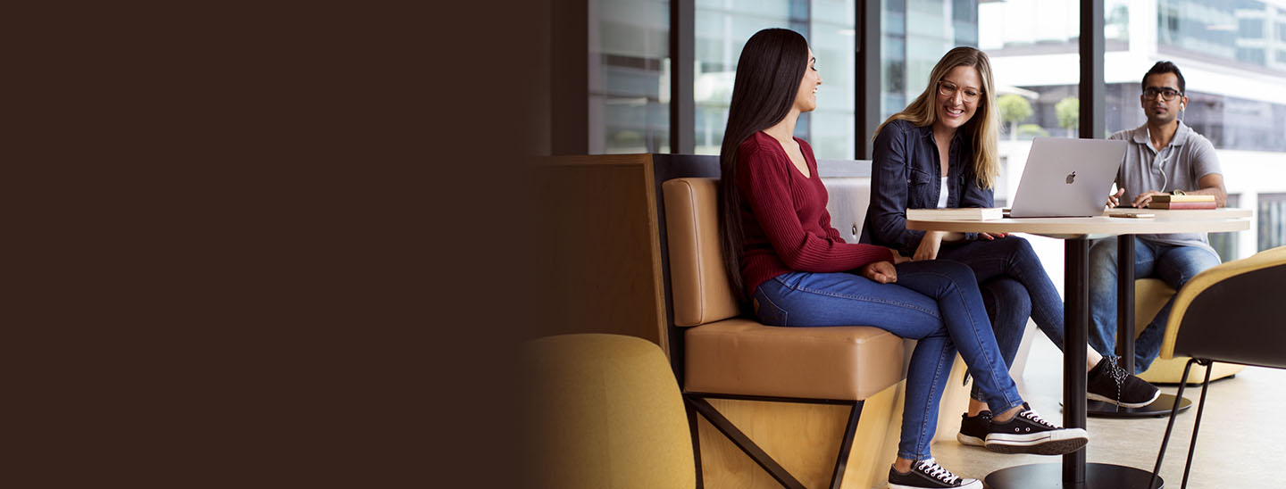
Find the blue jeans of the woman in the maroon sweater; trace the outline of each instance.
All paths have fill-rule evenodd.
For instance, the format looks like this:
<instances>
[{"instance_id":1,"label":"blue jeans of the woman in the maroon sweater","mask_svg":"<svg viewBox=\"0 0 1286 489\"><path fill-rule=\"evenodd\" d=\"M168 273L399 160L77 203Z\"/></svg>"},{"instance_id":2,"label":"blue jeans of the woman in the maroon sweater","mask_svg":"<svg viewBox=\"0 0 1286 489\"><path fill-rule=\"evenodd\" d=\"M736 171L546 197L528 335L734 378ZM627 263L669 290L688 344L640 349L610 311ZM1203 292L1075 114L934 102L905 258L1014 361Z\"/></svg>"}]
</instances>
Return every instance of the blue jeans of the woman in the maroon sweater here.
<instances>
[{"instance_id":1,"label":"blue jeans of the woman in the maroon sweater","mask_svg":"<svg viewBox=\"0 0 1286 489\"><path fill-rule=\"evenodd\" d=\"M961 356L997 412L1022 404L992 335L977 279L953 262L907 262L898 282L855 273L790 272L755 290L755 314L773 326L876 326L918 340L907 370L898 457L930 458L937 403Z\"/></svg>"}]
</instances>

